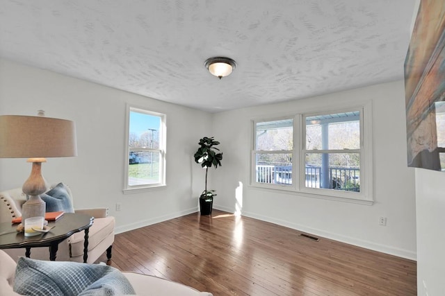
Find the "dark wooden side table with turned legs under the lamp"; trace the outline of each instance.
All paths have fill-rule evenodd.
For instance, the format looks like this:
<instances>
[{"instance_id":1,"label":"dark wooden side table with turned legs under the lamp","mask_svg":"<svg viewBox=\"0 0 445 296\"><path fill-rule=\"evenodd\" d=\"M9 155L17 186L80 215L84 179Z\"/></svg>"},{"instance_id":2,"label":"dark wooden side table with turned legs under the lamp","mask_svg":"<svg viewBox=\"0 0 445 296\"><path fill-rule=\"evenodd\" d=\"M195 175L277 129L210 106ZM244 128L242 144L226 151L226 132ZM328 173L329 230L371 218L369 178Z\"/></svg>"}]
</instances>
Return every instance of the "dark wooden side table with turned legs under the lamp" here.
<instances>
[{"instance_id":1,"label":"dark wooden side table with turned legs under the lamp","mask_svg":"<svg viewBox=\"0 0 445 296\"><path fill-rule=\"evenodd\" d=\"M38 236L24 236L24 232L17 232L17 225L0 223L0 249L26 248L25 256L31 255L31 247L49 247L49 260L56 260L58 244L72 236L76 232L85 230L85 242L83 243L83 262L88 259L88 232L94 217L86 214L65 213L56 221L48 223L49 227L55 226L47 233Z\"/></svg>"}]
</instances>

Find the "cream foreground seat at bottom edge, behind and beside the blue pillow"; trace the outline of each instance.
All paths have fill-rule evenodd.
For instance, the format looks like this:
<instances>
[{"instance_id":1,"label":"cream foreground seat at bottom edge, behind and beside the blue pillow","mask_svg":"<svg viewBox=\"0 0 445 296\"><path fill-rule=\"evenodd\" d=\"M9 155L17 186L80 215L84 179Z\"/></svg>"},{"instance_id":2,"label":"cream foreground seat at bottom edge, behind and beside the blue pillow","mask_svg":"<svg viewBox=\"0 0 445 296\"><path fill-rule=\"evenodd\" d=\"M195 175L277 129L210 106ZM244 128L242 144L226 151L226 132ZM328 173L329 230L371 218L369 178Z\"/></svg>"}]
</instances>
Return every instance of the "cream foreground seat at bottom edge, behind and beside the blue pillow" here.
<instances>
[{"instance_id":1,"label":"cream foreground seat at bottom edge, behind and beside the blue pillow","mask_svg":"<svg viewBox=\"0 0 445 296\"><path fill-rule=\"evenodd\" d=\"M0 295L1 296L17 296L19 294L13 291L14 277L15 277L15 261L5 252L0 250ZM140 296L155 296L155 295L181 295L181 296L212 296L211 293L200 292L179 284L175 281L168 281L159 277L152 277L149 275L140 275L133 272L122 272L129 280L131 286Z\"/></svg>"}]
</instances>

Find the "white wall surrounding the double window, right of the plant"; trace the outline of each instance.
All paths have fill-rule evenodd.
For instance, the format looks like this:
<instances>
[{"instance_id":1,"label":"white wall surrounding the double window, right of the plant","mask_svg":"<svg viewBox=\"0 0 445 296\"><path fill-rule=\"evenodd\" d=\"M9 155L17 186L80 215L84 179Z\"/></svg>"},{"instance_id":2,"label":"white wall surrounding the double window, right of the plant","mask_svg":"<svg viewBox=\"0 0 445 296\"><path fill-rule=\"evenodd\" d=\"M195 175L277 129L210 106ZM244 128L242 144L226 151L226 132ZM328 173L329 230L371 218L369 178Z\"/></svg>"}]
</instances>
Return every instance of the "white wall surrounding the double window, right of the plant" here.
<instances>
[{"instance_id":1,"label":"white wall surrounding the double window, right of the plant","mask_svg":"<svg viewBox=\"0 0 445 296\"><path fill-rule=\"evenodd\" d=\"M298 89L296 89L298 91ZM372 101L372 206L307 198L249 186L251 120ZM223 166L212 171L215 207L234 211L236 189L243 185L242 212L261 220L333 238L338 241L416 259L414 171L407 168L403 81L353 89L274 105L214 115L213 135L221 142ZM240 189L238 189L240 190ZM387 226L378 225L380 216Z\"/></svg>"}]
</instances>

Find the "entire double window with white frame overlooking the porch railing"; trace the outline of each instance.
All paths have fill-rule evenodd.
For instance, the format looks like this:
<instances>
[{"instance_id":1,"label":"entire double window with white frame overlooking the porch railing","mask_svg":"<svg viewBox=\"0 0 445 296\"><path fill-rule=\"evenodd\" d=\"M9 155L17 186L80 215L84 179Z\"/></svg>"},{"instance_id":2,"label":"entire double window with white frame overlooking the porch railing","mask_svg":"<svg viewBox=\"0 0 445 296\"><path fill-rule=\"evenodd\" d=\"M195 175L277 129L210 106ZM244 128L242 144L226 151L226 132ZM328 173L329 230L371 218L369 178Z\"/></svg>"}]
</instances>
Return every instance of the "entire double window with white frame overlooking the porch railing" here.
<instances>
[{"instance_id":1,"label":"entire double window with white frame overlooking the porch railing","mask_svg":"<svg viewBox=\"0 0 445 296\"><path fill-rule=\"evenodd\" d=\"M254 121L252 186L370 204L371 107L365 107Z\"/></svg>"}]
</instances>

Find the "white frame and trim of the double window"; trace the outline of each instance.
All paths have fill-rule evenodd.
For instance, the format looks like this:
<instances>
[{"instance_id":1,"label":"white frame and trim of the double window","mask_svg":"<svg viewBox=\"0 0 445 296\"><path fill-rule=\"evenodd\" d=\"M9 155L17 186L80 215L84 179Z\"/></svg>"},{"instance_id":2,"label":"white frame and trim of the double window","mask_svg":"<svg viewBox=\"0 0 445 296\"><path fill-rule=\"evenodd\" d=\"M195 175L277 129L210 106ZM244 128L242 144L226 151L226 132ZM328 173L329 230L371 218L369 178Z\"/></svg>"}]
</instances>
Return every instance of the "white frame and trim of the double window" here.
<instances>
[{"instance_id":1,"label":"white frame and trim of the double window","mask_svg":"<svg viewBox=\"0 0 445 296\"><path fill-rule=\"evenodd\" d=\"M305 141L306 125L305 116L318 114L337 114L342 112L360 111L360 192L350 192L332 189L308 188L305 186ZM252 155L251 155L251 177L250 186L271 191L286 191L291 194L301 195L309 198L323 198L327 200L338 200L342 202L353 202L358 204L373 204L373 143L372 143L372 105L371 102L361 105L324 108L317 111L309 110L295 114L293 117L293 162L292 162L292 185L267 184L256 182L256 159L257 153L264 151L254 150L256 148L256 126L259 122L277 121L289 119L289 116L261 118L252 120ZM330 151L330 150L327 150ZM339 151L334 151L339 152ZM332 152L331 152L332 153Z\"/></svg>"}]
</instances>

